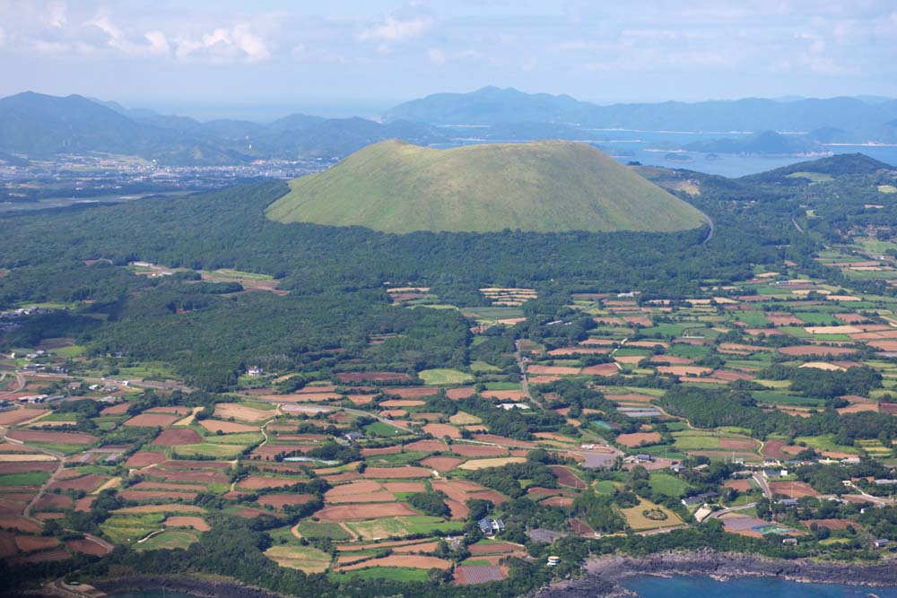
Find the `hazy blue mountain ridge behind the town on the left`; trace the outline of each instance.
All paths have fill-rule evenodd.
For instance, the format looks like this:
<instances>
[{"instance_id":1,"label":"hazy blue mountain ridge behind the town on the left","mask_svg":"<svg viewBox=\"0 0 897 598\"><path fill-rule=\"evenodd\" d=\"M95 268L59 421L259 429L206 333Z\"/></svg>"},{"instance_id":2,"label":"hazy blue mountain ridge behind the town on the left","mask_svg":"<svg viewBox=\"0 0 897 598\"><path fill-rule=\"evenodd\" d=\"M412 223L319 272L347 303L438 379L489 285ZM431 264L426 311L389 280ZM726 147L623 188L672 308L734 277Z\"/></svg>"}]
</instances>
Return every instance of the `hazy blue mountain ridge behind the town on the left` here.
<instances>
[{"instance_id":1,"label":"hazy blue mountain ridge behind the town on the left","mask_svg":"<svg viewBox=\"0 0 897 598\"><path fill-rule=\"evenodd\" d=\"M433 126L405 121L380 124L363 118L291 115L268 126L224 119L204 123L79 95L26 91L0 99L0 152L26 158L101 152L167 165L338 159L399 136L414 143L447 141Z\"/></svg>"}]
</instances>

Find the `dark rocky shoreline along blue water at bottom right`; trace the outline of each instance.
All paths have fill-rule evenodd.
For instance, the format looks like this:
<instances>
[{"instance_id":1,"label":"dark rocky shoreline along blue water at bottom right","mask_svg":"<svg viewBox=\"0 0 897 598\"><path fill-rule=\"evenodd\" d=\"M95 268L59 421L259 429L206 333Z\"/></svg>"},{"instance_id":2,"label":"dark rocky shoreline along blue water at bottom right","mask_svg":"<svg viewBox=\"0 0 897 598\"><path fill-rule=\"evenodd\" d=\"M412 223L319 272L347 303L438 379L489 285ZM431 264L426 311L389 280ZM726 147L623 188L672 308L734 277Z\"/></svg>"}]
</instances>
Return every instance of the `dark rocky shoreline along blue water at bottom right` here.
<instances>
[{"instance_id":1,"label":"dark rocky shoreline along blue water at bottom right","mask_svg":"<svg viewBox=\"0 0 897 598\"><path fill-rule=\"evenodd\" d=\"M818 562L807 559L765 559L744 553L713 550L662 552L643 558L610 557L588 561L585 575L547 588L537 598L617 598L634 596L625 587L636 576L708 576L727 581L735 577L778 577L808 584L897 585L893 561L869 565Z\"/></svg>"}]
</instances>

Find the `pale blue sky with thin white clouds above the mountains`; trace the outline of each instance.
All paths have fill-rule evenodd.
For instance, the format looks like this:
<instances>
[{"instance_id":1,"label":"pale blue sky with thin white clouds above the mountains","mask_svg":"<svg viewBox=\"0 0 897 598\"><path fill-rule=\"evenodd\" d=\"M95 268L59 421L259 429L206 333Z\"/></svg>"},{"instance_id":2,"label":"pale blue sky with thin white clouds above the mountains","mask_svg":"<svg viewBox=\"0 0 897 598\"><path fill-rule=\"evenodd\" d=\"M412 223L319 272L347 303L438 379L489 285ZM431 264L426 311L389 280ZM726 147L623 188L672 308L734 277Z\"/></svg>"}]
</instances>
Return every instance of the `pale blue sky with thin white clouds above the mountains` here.
<instances>
[{"instance_id":1,"label":"pale blue sky with thin white clouds above the mountains","mask_svg":"<svg viewBox=\"0 0 897 598\"><path fill-rule=\"evenodd\" d=\"M897 97L897 0L0 0L0 74L3 96L210 117L367 116L485 85L601 103Z\"/></svg>"}]
</instances>

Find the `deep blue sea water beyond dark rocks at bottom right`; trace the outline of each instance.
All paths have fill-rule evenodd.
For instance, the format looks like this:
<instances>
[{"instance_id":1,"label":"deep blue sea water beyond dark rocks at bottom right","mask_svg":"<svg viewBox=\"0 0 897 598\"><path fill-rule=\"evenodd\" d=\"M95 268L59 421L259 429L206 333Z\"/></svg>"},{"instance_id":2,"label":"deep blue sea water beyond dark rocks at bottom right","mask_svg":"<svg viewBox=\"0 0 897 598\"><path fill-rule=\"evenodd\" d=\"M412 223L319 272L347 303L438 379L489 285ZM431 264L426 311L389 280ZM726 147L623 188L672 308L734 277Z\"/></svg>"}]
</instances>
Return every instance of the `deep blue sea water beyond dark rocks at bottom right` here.
<instances>
[{"instance_id":1,"label":"deep blue sea water beyond dark rocks at bottom right","mask_svg":"<svg viewBox=\"0 0 897 598\"><path fill-rule=\"evenodd\" d=\"M623 584L642 598L897 598L894 587L800 584L781 579L710 577L635 577Z\"/></svg>"}]
</instances>

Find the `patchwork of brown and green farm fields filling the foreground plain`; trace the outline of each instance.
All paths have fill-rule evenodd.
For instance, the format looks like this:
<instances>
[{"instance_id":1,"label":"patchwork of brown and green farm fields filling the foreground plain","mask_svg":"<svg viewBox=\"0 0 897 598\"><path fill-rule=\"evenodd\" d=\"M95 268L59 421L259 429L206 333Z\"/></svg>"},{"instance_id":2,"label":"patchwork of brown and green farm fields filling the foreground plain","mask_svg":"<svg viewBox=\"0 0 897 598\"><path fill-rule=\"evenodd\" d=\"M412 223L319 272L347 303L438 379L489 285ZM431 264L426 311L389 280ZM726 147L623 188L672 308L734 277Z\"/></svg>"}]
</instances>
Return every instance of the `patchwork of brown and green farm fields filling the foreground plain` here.
<instances>
[{"instance_id":1,"label":"patchwork of brown and green farm fields filling the foreground plain","mask_svg":"<svg viewBox=\"0 0 897 598\"><path fill-rule=\"evenodd\" d=\"M779 256L669 295L391 281L353 307L376 322L334 338L285 325L213 390L81 338L42 360L65 376L0 359L0 554L13 567L117 546L150 559L252 538L241 550L266 576L386 588L549 579L549 555L567 575L604 542L641 550L680 528L689 542L766 536L769 550L794 532L789 550L808 558L872 550L897 537L897 244L884 237L818 252L818 268ZM303 296L264 275L201 278L185 284L244 290L192 307ZM264 308L278 325L309 309L281 320L281 305ZM20 400L50 384L61 399ZM826 537L825 521L842 523Z\"/></svg>"}]
</instances>

